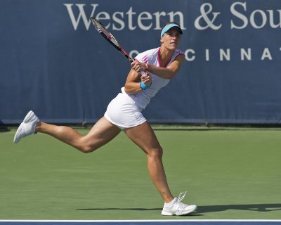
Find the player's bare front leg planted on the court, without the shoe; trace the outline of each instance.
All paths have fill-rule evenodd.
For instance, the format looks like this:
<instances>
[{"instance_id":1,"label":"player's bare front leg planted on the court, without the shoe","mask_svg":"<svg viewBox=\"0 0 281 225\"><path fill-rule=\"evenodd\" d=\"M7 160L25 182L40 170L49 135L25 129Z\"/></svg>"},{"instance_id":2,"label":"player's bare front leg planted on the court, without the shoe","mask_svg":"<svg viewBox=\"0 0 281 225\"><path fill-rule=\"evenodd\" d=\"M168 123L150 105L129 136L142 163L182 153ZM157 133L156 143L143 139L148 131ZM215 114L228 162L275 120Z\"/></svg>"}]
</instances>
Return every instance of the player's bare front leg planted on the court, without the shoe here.
<instances>
[{"instance_id":1,"label":"player's bare front leg planted on the court, without the shoe","mask_svg":"<svg viewBox=\"0 0 281 225\"><path fill-rule=\"evenodd\" d=\"M139 146L147 155L148 158L148 172L153 184L156 186L165 203L171 202L174 199L169 190L166 181L166 174L162 164L162 147L160 146L154 131L148 122L124 130L137 146Z\"/></svg>"}]
</instances>

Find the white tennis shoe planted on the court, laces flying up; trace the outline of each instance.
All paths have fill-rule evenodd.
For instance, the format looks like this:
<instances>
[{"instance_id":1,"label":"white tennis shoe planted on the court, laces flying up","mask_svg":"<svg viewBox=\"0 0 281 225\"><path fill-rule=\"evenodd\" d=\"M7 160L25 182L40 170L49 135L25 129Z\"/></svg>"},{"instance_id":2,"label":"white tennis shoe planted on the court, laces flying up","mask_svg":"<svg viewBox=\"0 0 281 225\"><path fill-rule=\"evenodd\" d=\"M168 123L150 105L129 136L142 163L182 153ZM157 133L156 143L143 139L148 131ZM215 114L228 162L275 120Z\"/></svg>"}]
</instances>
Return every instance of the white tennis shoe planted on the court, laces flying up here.
<instances>
[{"instance_id":1,"label":"white tennis shoe planted on the court, laces flying up","mask_svg":"<svg viewBox=\"0 0 281 225\"><path fill-rule=\"evenodd\" d=\"M174 198L171 203L165 203L161 214L163 216L183 216L195 211L197 209L196 205L186 205L181 203L181 200L185 198L185 194L186 192L180 193L178 198Z\"/></svg>"}]
</instances>

